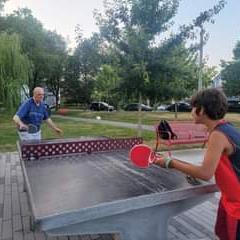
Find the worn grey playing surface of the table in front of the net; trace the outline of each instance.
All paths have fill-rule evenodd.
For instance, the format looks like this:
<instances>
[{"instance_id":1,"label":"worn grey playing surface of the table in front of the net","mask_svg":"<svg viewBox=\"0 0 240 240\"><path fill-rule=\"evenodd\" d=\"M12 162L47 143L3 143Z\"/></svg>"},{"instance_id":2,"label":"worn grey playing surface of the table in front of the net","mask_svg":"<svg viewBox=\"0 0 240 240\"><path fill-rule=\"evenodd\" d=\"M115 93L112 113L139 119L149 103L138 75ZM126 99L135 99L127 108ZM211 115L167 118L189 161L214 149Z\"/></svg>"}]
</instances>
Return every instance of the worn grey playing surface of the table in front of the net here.
<instances>
[{"instance_id":1,"label":"worn grey playing surface of the table in front of the net","mask_svg":"<svg viewBox=\"0 0 240 240\"><path fill-rule=\"evenodd\" d=\"M186 161L200 162L203 150L173 154ZM187 198L194 189L214 185L203 181L193 185L184 174L155 165L148 169L136 168L129 160L129 150L51 156L23 161L23 167L35 219L111 203L121 205L129 200L128 204L134 205L145 196L157 197L158 201L161 196L163 201L176 201L178 197ZM149 199L151 201L151 197Z\"/></svg>"}]
</instances>

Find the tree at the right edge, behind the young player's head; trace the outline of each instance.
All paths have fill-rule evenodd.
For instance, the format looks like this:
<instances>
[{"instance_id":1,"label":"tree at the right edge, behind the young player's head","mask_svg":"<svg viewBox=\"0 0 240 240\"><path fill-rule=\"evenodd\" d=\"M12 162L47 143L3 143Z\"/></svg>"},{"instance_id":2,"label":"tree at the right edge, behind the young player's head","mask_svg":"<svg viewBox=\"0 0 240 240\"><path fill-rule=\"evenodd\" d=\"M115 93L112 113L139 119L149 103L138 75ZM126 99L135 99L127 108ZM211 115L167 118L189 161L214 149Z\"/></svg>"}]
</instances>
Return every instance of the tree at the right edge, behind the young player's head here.
<instances>
[{"instance_id":1,"label":"tree at the right edge, behind the young player's head","mask_svg":"<svg viewBox=\"0 0 240 240\"><path fill-rule=\"evenodd\" d=\"M240 95L240 41L233 49L233 60L222 62L221 78L227 95Z\"/></svg>"}]
</instances>

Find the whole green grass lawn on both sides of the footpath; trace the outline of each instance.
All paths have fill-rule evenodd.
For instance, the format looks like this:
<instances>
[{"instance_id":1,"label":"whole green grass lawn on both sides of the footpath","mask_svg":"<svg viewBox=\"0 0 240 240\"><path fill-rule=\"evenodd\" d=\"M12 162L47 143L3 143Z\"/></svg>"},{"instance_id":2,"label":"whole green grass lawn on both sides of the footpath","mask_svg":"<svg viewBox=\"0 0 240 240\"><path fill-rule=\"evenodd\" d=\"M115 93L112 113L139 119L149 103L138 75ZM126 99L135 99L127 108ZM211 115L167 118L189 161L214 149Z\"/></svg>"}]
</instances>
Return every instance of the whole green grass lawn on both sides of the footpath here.
<instances>
[{"instance_id":1,"label":"whole green grass lawn on both sides of the footpath","mask_svg":"<svg viewBox=\"0 0 240 240\"><path fill-rule=\"evenodd\" d=\"M92 118L101 116L103 120L120 121L120 122L138 122L138 112L91 112L69 110L65 113L66 116ZM13 114L0 112L0 152L16 151L16 141L18 140L16 128L12 121ZM176 120L174 113L163 112L143 112L142 123L147 125L155 125L160 119ZM54 120L54 116L53 116ZM190 121L190 113L178 113L178 121ZM240 114L227 114L226 120L234 123L240 128ZM76 122L69 120L56 119L55 122L64 131L64 138L79 137L79 136L108 136L108 137L135 137L137 130L128 128L117 128L110 125L90 124L88 122ZM42 136L46 138L58 138L46 124L43 124ZM144 142L154 146L155 133L143 131ZM196 146L196 145L195 145ZM177 148L184 146L177 146ZM192 147L192 146L188 146Z\"/></svg>"}]
</instances>

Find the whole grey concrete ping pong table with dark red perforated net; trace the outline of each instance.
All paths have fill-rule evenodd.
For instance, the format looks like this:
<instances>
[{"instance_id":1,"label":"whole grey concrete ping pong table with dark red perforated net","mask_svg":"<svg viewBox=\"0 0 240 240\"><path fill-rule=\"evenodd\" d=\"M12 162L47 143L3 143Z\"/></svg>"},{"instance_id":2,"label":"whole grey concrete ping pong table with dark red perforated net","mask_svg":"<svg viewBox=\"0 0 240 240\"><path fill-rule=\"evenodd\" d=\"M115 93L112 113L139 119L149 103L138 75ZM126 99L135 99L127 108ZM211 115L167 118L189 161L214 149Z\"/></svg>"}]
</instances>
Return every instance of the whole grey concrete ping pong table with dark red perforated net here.
<instances>
[{"instance_id":1,"label":"whole grey concrete ping pong table with dark red perforated net","mask_svg":"<svg viewBox=\"0 0 240 240\"><path fill-rule=\"evenodd\" d=\"M173 169L138 169L129 149L141 138L78 138L18 143L33 226L48 235L120 233L122 240L166 240L170 217L210 198ZM200 161L203 150L173 152Z\"/></svg>"}]
</instances>

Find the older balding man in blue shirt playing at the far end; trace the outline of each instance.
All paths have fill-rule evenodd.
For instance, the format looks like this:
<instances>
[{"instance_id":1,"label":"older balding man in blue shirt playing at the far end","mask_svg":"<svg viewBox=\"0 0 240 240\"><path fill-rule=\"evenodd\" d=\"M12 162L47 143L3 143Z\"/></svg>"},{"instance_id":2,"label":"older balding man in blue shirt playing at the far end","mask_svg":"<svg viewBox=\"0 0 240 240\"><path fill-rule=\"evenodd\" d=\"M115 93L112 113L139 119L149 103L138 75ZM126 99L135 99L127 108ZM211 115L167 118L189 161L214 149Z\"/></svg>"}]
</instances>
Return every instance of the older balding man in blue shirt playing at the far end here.
<instances>
[{"instance_id":1,"label":"older balding man in blue shirt playing at the far end","mask_svg":"<svg viewBox=\"0 0 240 240\"><path fill-rule=\"evenodd\" d=\"M20 140L40 140L43 120L58 134L62 134L62 130L51 120L43 98L43 88L34 88L33 97L24 102L14 115L13 121L17 124Z\"/></svg>"}]
</instances>

